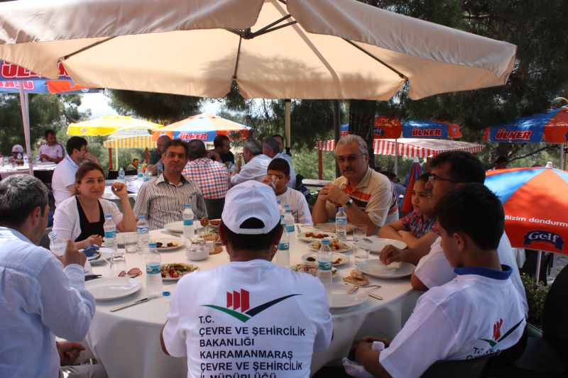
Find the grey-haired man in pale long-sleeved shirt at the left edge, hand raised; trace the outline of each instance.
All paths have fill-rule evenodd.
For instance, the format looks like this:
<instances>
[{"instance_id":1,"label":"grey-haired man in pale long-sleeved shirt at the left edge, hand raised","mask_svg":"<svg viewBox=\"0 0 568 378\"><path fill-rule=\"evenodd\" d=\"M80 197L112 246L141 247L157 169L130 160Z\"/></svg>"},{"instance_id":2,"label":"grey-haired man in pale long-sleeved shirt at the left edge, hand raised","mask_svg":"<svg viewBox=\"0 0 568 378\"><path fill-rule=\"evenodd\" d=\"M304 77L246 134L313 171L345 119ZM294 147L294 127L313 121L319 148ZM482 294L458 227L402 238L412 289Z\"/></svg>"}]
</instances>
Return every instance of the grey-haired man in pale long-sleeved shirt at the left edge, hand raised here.
<instances>
[{"instance_id":1,"label":"grey-haired man in pale long-sleeved shirt at the left edge, hand raised","mask_svg":"<svg viewBox=\"0 0 568 378\"><path fill-rule=\"evenodd\" d=\"M56 345L55 336L83 340L94 315L94 298L84 288L85 255L70 241L60 258L38 247L47 224L48 190L39 179L16 174L0 182L3 377L57 377L60 362L78 347Z\"/></svg>"}]
</instances>

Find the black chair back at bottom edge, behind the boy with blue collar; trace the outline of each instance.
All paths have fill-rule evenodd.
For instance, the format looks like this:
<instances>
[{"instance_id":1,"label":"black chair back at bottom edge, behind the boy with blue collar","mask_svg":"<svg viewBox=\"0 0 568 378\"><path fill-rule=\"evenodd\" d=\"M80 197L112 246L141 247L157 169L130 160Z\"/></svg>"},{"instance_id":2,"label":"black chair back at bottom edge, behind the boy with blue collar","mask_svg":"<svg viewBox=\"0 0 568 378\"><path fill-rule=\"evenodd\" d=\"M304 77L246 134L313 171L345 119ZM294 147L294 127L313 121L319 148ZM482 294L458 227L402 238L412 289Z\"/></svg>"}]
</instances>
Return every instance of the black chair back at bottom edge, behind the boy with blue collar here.
<instances>
[{"instance_id":1,"label":"black chair back at bottom edge, behind the boy with blue collar","mask_svg":"<svg viewBox=\"0 0 568 378\"><path fill-rule=\"evenodd\" d=\"M481 378L486 377L488 362L495 355L484 355L471 360L434 362L421 378Z\"/></svg>"}]
</instances>

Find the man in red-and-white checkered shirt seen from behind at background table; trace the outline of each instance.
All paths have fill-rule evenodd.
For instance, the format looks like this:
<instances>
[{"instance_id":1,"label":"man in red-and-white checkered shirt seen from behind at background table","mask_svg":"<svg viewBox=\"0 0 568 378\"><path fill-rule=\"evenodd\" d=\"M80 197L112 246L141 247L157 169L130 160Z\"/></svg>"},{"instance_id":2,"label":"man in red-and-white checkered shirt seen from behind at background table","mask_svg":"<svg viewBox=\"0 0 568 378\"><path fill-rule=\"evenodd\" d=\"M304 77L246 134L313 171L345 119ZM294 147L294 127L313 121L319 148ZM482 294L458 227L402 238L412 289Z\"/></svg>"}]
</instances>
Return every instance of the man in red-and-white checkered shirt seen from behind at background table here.
<instances>
[{"instance_id":1,"label":"man in red-and-white checkered shirt seen from behind at background table","mask_svg":"<svg viewBox=\"0 0 568 378\"><path fill-rule=\"evenodd\" d=\"M201 140L191 140L190 155L182 175L199 184L205 199L224 198L231 185L231 174L226 166L207 158L205 144Z\"/></svg>"}]
</instances>

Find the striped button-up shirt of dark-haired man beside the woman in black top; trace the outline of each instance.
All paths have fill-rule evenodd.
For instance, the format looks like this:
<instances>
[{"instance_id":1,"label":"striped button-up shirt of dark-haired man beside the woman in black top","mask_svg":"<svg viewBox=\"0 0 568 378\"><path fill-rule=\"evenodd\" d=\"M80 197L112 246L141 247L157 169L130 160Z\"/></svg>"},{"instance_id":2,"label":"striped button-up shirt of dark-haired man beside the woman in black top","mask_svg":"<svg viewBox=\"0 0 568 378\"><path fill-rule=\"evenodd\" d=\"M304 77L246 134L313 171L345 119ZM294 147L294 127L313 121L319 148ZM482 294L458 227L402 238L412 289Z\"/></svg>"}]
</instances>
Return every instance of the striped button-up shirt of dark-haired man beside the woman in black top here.
<instances>
[{"instance_id":1,"label":"striped button-up shirt of dark-haired man beside the woman in black top","mask_svg":"<svg viewBox=\"0 0 568 378\"><path fill-rule=\"evenodd\" d=\"M199 194L199 195L195 195ZM192 204L199 219L205 216L205 202L199 185L181 177L178 185L165 179L163 174L143 184L134 204L134 215L146 216L151 230L163 228L166 223L182 221L185 204Z\"/></svg>"}]
</instances>

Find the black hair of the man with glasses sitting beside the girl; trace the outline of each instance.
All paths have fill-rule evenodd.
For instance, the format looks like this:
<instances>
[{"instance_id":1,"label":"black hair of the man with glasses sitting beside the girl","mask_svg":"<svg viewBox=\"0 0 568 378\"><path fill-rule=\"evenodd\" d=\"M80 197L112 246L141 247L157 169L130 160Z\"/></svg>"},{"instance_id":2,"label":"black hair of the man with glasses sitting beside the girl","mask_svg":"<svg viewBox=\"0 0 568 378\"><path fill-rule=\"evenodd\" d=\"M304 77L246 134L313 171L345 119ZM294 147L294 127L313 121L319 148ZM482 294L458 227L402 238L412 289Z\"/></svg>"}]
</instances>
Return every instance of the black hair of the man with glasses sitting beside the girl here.
<instances>
[{"instance_id":1,"label":"black hair of the man with glasses sitting beside the girl","mask_svg":"<svg viewBox=\"0 0 568 378\"><path fill-rule=\"evenodd\" d=\"M430 168L449 164L449 179L454 182L485 182L485 168L481 160L471 152L446 151L430 159Z\"/></svg>"}]
</instances>

